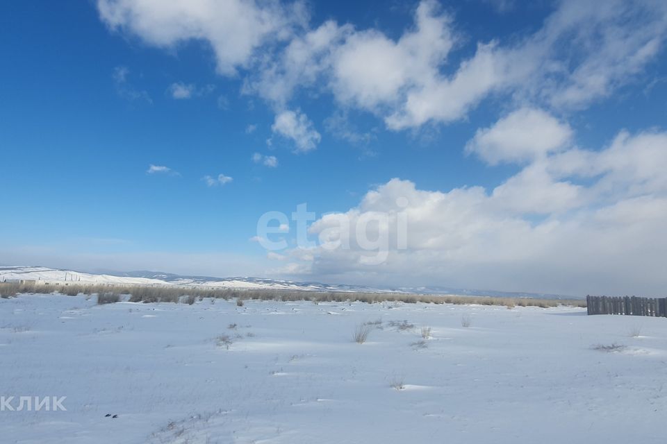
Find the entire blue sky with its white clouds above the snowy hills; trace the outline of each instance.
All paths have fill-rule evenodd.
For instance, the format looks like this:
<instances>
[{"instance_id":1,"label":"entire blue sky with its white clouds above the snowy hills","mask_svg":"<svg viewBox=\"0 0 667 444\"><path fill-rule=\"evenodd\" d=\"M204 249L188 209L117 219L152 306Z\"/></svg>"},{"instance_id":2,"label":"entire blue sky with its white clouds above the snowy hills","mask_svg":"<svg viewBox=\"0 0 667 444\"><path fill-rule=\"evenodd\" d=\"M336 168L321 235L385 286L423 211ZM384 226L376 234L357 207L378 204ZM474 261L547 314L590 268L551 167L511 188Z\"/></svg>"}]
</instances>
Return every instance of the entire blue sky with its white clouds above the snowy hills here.
<instances>
[{"instance_id":1,"label":"entire blue sky with its white clouds above the snowy hills","mask_svg":"<svg viewBox=\"0 0 667 444\"><path fill-rule=\"evenodd\" d=\"M667 11L593 3L3 3L0 262L658 291ZM322 249L387 196L406 248Z\"/></svg>"}]
</instances>

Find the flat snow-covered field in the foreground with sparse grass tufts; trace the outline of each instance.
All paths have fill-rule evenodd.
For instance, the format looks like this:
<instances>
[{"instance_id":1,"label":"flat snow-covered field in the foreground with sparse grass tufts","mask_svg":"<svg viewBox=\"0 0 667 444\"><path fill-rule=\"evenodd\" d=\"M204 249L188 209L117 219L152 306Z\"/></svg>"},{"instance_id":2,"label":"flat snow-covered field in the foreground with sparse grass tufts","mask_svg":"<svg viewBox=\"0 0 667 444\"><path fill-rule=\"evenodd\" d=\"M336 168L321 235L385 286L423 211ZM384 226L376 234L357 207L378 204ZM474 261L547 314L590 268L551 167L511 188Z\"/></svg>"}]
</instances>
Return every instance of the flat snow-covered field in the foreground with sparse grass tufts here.
<instances>
[{"instance_id":1,"label":"flat snow-covered field in the foreground with sparse grass tufts","mask_svg":"<svg viewBox=\"0 0 667 444\"><path fill-rule=\"evenodd\" d=\"M367 342L352 341L377 321ZM614 343L625 348L593 348ZM67 411L0 411L2 443L665 440L665 318L28 295L0 300L0 357L0 395L14 407L67 396Z\"/></svg>"}]
</instances>

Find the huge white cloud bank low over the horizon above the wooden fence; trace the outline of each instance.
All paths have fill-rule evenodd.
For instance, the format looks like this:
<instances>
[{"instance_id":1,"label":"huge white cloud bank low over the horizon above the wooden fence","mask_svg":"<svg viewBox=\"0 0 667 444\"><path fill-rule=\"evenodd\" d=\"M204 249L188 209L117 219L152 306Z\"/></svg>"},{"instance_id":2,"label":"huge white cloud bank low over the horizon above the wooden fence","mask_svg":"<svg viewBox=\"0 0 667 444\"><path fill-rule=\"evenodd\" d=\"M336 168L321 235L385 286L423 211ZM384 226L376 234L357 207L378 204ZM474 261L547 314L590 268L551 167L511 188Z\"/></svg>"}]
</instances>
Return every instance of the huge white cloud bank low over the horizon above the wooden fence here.
<instances>
[{"instance_id":1,"label":"huge white cloud bank low over the horizon above the wooden fence","mask_svg":"<svg viewBox=\"0 0 667 444\"><path fill-rule=\"evenodd\" d=\"M599 150L538 157L493 189L393 179L312 223L318 246L299 259L300 248L288 250L290 270L341 282L661 293L666 167L667 133L621 132ZM387 247L379 262L368 239Z\"/></svg>"}]
</instances>

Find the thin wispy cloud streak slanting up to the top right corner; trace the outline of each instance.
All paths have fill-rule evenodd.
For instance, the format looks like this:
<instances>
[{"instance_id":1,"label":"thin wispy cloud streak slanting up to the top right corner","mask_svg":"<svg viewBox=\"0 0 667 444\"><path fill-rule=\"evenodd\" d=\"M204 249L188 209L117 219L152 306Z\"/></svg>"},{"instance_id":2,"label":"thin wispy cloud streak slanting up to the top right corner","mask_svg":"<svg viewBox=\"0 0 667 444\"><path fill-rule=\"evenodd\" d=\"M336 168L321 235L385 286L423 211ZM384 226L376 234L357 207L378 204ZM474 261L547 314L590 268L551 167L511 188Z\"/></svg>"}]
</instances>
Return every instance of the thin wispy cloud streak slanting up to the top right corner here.
<instances>
[{"instance_id":1,"label":"thin wispy cloud streak slanting up to the top right corner","mask_svg":"<svg viewBox=\"0 0 667 444\"><path fill-rule=\"evenodd\" d=\"M491 94L553 108L585 108L634 78L667 34L667 4L564 0L543 28L517 44L478 44L452 76L437 72L405 89L386 117L400 130L465 117Z\"/></svg>"}]
</instances>

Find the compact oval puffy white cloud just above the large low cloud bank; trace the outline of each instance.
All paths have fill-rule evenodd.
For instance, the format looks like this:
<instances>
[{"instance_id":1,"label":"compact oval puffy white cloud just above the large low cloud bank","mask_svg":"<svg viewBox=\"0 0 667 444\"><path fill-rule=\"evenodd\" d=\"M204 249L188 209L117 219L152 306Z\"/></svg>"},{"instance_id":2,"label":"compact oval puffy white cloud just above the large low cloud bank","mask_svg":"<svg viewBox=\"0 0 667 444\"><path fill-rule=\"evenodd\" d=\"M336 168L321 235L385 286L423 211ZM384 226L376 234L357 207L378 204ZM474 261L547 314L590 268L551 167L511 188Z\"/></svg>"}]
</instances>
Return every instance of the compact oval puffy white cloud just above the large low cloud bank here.
<instances>
[{"instance_id":1,"label":"compact oval puffy white cloud just above the large low cloud bank","mask_svg":"<svg viewBox=\"0 0 667 444\"><path fill-rule=\"evenodd\" d=\"M500 119L491 128L479 129L466 145L488 164L527 162L563 148L572 130L542 110L521 108Z\"/></svg>"}]
</instances>

